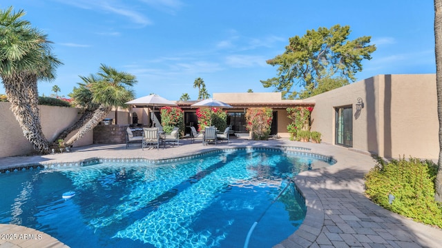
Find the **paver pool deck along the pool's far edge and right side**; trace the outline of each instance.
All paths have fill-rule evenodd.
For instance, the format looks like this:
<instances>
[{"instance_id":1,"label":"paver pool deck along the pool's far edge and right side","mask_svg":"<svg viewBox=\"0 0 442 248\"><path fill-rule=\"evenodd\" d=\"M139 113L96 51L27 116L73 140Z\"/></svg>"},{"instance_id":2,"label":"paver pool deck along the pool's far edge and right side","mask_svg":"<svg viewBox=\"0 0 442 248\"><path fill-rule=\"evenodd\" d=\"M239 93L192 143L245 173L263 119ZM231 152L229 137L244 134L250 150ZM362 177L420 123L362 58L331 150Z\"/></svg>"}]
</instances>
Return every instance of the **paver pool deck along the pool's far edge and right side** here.
<instances>
[{"instance_id":1,"label":"paver pool deck along the pool's far edge and right side","mask_svg":"<svg viewBox=\"0 0 442 248\"><path fill-rule=\"evenodd\" d=\"M110 157L109 154L123 158L143 154L143 158L165 159L175 157L177 154L188 156L211 149L256 146L281 148L285 145L305 147L312 153L332 156L337 163L330 167L302 172L295 177L296 185L306 200L307 214L300 228L275 247L438 247L442 243L441 229L398 216L368 200L363 193L363 174L368 172L375 162L367 156L367 153L355 152L345 147L324 143L300 143L288 141L288 139L262 142L244 141L238 138L236 141L221 143L215 147L201 147L201 143L183 142L180 144L181 149L174 147L144 152L141 151L141 147L124 149L125 145L93 145L79 147L70 154L40 157L47 161L64 163L69 162L72 156L96 157L93 154L99 151L103 155L101 157L107 158ZM164 150L167 154L164 154ZM17 163L10 165L26 164L21 159L15 158L7 158L3 161L15 160ZM48 163L47 161L44 163ZM2 158L0 158L0 165L4 165L1 162ZM364 226L354 227L355 225Z\"/></svg>"}]
</instances>

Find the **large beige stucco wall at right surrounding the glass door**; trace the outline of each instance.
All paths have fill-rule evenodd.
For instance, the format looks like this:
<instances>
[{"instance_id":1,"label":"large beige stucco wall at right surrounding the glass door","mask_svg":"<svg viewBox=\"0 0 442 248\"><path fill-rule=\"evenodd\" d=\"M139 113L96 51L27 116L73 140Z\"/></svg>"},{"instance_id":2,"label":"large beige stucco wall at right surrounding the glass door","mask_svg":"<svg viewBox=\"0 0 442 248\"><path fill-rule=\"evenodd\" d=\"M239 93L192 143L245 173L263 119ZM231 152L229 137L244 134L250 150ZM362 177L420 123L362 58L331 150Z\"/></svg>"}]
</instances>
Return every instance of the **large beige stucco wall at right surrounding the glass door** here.
<instances>
[{"instance_id":1,"label":"large beige stucco wall at right surrounding the glass door","mask_svg":"<svg viewBox=\"0 0 442 248\"><path fill-rule=\"evenodd\" d=\"M356 118L356 102L364 108ZM353 147L383 157L439 156L435 74L378 75L313 96L311 130L335 143L335 108L353 107Z\"/></svg>"}]
</instances>

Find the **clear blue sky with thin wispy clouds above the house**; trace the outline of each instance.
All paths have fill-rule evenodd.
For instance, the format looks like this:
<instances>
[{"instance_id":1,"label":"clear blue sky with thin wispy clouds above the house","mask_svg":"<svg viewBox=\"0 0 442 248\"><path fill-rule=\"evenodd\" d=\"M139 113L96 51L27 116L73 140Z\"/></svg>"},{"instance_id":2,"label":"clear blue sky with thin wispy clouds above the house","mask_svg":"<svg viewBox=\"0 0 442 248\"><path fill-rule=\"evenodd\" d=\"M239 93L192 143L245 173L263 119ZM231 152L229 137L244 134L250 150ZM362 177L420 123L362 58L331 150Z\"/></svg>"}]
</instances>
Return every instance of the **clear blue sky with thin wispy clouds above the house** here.
<instances>
[{"instance_id":1,"label":"clear blue sky with thin wispy clouds above the house","mask_svg":"<svg viewBox=\"0 0 442 248\"><path fill-rule=\"evenodd\" d=\"M265 61L282 54L289 37L349 25L349 39L371 36L377 47L358 80L377 74L435 73L434 1L430 0L2 0L25 10L64 63L39 94L67 96L100 63L137 76L137 97L178 100L204 79L209 94L272 92L260 80L276 76ZM4 94L1 87L0 93Z\"/></svg>"}]
</instances>

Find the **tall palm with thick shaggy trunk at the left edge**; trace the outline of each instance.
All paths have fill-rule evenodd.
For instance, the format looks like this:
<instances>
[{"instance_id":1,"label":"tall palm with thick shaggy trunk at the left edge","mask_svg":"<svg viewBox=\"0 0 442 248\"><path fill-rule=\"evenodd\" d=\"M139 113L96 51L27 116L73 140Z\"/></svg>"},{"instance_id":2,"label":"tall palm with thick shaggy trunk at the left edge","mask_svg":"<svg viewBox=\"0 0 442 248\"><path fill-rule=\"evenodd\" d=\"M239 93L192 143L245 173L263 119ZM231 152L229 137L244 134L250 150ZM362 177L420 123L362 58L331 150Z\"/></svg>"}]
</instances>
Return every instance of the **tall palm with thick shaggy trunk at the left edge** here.
<instances>
[{"instance_id":1,"label":"tall palm with thick shaggy trunk at the left edge","mask_svg":"<svg viewBox=\"0 0 442 248\"><path fill-rule=\"evenodd\" d=\"M61 62L50 52L46 34L22 20L23 10L0 10L0 76L25 138L41 153L49 143L41 131L37 81L55 78Z\"/></svg>"}]
</instances>

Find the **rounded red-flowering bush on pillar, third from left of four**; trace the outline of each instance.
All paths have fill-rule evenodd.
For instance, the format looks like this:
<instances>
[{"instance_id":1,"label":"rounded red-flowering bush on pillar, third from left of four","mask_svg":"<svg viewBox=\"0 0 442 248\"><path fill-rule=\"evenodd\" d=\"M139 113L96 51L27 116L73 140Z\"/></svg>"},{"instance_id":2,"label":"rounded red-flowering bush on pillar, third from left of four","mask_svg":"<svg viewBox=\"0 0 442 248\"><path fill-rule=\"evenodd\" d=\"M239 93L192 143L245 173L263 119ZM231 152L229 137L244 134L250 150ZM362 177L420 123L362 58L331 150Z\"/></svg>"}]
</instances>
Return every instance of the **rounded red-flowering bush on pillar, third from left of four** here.
<instances>
[{"instance_id":1,"label":"rounded red-flowering bush on pillar, third from left of four","mask_svg":"<svg viewBox=\"0 0 442 248\"><path fill-rule=\"evenodd\" d=\"M269 138L273 118L270 107L252 107L246 112L246 128L252 133L253 140Z\"/></svg>"}]
</instances>

